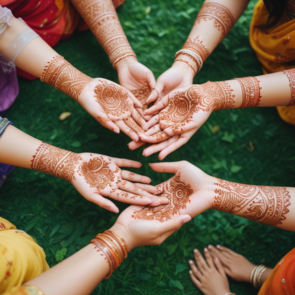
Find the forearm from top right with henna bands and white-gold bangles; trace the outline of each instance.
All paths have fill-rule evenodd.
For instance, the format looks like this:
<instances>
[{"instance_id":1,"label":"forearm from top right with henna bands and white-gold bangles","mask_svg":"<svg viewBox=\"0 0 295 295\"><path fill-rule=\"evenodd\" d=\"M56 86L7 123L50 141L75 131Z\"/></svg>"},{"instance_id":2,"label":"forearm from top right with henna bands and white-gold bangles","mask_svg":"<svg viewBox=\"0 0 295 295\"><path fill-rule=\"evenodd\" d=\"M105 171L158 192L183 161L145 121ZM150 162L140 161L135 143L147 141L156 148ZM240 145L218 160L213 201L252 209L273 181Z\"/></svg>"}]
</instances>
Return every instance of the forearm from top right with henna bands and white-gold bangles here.
<instances>
[{"instance_id":1,"label":"forearm from top right with henna bands and white-gold bangles","mask_svg":"<svg viewBox=\"0 0 295 295\"><path fill-rule=\"evenodd\" d=\"M241 16L248 2L249 0L204 1L181 53L176 53L176 60L186 60L195 72L199 71Z\"/></svg>"}]
</instances>

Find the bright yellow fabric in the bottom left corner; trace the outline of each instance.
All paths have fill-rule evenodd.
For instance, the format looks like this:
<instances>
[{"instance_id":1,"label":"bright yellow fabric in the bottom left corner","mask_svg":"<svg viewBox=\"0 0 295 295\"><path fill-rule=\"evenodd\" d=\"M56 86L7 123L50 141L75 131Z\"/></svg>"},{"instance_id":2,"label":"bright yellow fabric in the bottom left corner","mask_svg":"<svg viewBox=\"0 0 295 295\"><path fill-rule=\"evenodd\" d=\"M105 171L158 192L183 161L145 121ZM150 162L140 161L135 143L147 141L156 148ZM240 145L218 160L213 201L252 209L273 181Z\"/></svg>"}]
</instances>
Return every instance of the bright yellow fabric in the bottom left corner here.
<instances>
[{"instance_id":1,"label":"bright yellow fabric in the bottom left corner","mask_svg":"<svg viewBox=\"0 0 295 295\"><path fill-rule=\"evenodd\" d=\"M0 217L0 294L26 294L10 291L47 269L45 253L34 239Z\"/></svg>"}]
</instances>

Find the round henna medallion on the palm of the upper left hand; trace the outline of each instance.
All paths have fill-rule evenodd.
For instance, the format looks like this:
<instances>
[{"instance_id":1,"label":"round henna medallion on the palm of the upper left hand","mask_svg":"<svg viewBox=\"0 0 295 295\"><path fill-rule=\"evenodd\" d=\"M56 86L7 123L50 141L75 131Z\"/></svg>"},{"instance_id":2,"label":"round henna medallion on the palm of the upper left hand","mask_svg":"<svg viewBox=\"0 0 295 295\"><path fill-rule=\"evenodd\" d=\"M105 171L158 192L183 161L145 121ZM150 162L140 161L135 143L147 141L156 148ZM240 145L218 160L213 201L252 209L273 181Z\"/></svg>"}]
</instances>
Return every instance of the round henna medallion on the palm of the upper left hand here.
<instances>
[{"instance_id":1,"label":"round henna medallion on the palm of the upper left hand","mask_svg":"<svg viewBox=\"0 0 295 295\"><path fill-rule=\"evenodd\" d=\"M128 92L114 84L108 84L106 81L101 81L96 85L95 98L101 105L106 114L111 114L115 117L120 117L122 114L131 114L132 104L130 102ZM128 114L127 114L128 115Z\"/></svg>"}]
</instances>

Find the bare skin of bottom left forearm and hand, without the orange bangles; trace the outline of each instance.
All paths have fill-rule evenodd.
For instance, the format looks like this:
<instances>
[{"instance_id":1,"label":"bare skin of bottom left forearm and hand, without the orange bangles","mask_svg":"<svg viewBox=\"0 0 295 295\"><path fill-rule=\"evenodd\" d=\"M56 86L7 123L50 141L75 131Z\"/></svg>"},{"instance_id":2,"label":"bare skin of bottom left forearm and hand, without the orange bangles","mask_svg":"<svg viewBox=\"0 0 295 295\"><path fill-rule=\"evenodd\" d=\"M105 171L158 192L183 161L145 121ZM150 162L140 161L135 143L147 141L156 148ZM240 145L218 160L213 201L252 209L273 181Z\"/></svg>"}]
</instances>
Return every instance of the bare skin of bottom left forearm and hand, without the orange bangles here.
<instances>
[{"instance_id":1,"label":"bare skin of bottom left forearm and hand, without the orange bangles","mask_svg":"<svg viewBox=\"0 0 295 295\"><path fill-rule=\"evenodd\" d=\"M132 212L141 208L142 206L131 205L120 214L110 228L125 240L129 251L142 245L159 245L191 220L186 214L175 216L165 222L134 220L131 217ZM26 284L37 286L47 295L90 294L110 270L105 256L99 253L93 244L89 244Z\"/></svg>"}]
</instances>

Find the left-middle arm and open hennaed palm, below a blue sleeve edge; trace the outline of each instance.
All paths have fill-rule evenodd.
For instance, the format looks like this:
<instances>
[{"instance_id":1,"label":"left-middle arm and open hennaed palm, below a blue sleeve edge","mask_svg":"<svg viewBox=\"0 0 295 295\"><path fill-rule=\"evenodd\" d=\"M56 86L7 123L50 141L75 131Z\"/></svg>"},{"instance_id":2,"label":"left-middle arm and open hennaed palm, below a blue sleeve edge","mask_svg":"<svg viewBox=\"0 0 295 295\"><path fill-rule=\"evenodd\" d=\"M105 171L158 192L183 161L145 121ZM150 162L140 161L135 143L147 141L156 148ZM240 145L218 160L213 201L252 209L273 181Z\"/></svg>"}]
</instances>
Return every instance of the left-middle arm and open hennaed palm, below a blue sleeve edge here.
<instances>
[{"instance_id":1,"label":"left-middle arm and open hennaed palm, below a blue sleeve edge","mask_svg":"<svg viewBox=\"0 0 295 295\"><path fill-rule=\"evenodd\" d=\"M140 168L133 160L113 158L94 153L73 153L48 145L9 125L0 139L0 162L49 173L71 182L87 200L118 213L109 199L124 203L152 205L168 203L159 199L151 179L119 167ZM136 184L133 182L141 182Z\"/></svg>"}]
</instances>

